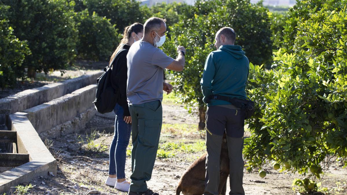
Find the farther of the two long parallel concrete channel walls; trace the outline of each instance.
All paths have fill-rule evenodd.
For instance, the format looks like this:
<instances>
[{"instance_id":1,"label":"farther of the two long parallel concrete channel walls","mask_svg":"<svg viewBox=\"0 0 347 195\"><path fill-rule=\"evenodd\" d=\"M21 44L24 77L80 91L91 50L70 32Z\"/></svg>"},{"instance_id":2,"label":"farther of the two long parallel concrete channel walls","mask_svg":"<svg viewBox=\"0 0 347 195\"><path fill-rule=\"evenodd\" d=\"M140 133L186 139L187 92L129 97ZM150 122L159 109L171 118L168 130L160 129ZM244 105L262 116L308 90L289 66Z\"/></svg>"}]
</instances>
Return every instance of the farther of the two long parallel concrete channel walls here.
<instances>
[{"instance_id":1,"label":"farther of the two long parallel concrete channel walls","mask_svg":"<svg viewBox=\"0 0 347 195\"><path fill-rule=\"evenodd\" d=\"M96 84L103 71L25 90L0 99L0 109L11 109L11 113L22 112L28 108L49 102L87 85Z\"/></svg>"}]
</instances>

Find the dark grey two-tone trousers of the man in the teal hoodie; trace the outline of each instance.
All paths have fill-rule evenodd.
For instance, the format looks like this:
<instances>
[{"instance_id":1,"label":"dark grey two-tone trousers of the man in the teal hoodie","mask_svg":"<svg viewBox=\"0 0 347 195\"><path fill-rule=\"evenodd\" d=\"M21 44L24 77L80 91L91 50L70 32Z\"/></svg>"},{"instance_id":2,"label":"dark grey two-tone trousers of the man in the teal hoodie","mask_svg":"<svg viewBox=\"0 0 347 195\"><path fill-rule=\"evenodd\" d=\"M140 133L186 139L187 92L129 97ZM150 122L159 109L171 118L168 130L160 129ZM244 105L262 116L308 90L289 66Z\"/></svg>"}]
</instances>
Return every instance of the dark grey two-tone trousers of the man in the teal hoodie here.
<instances>
[{"instance_id":1,"label":"dark grey two-tone trousers of the man in the teal hoodie","mask_svg":"<svg viewBox=\"0 0 347 195\"><path fill-rule=\"evenodd\" d=\"M244 115L240 109L220 106L208 107L206 111L206 187L204 195L219 195L220 153L223 134L227 134L229 154L229 180L231 194L244 195L242 158Z\"/></svg>"}]
</instances>

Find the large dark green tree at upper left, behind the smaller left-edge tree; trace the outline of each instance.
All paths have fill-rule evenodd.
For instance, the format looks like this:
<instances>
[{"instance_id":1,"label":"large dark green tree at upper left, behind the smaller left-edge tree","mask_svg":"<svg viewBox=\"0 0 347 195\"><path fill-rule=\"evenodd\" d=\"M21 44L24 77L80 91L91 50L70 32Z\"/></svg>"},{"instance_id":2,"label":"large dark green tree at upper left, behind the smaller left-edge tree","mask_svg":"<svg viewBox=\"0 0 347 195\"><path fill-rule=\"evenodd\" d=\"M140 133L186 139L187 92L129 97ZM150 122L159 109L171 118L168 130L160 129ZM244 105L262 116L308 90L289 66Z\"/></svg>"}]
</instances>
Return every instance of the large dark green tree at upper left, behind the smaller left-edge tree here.
<instances>
[{"instance_id":1,"label":"large dark green tree at upper left, behind the smaller left-edge tree","mask_svg":"<svg viewBox=\"0 0 347 195\"><path fill-rule=\"evenodd\" d=\"M74 60L77 30L73 1L2 0L2 3L11 7L8 19L14 35L26 40L32 52L23 61L29 76L36 71L64 69Z\"/></svg>"}]
</instances>

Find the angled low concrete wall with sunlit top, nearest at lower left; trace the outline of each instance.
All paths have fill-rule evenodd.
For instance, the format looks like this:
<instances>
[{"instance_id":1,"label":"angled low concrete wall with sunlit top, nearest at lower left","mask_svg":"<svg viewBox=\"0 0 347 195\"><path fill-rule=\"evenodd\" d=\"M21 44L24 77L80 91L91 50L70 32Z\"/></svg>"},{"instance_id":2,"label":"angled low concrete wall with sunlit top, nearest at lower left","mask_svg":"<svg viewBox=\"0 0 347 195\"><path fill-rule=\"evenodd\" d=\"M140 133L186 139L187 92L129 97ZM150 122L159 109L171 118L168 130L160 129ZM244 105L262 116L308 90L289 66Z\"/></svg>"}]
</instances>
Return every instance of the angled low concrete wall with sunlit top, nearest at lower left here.
<instances>
[{"instance_id":1,"label":"angled low concrete wall with sunlit top, nearest at lower left","mask_svg":"<svg viewBox=\"0 0 347 195\"><path fill-rule=\"evenodd\" d=\"M17 112L9 118L11 129L17 132L18 152L29 154L30 162L0 174L0 194L35 177L47 176L48 172L57 174L56 159L41 141L26 113Z\"/></svg>"}]
</instances>

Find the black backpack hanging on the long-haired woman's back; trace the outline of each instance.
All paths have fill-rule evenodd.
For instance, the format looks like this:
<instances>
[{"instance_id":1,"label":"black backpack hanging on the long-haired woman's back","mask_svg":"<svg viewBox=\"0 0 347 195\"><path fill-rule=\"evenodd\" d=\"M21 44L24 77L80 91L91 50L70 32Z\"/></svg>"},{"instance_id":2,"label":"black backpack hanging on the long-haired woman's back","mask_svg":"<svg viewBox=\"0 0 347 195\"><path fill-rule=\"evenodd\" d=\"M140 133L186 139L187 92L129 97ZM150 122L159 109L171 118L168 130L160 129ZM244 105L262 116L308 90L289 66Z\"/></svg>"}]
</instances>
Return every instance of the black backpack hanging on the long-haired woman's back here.
<instances>
[{"instance_id":1,"label":"black backpack hanging on the long-haired woman's back","mask_svg":"<svg viewBox=\"0 0 347 195\"><path fill-rule=\"evenodd\" d=\"M124 50L125 49L122 49L117 53L117 55L115 56L115 58L113 58L109 66L104 68L105 72L98 79L96 79L96 97L93 104L95 106L95 109L101 114L112 112L113 108L115 108L116 106L118 89L115 90L112 87L111 73L112 69L115 67L113 65L113 62L115 61L115 59L117 59L118 54ZM111 69L112 65L113 68Z\"/></svg>"}]
</instances>

